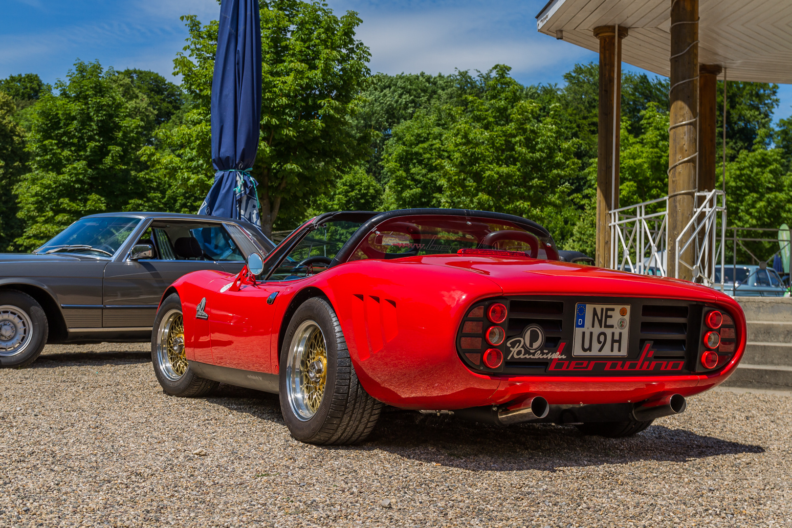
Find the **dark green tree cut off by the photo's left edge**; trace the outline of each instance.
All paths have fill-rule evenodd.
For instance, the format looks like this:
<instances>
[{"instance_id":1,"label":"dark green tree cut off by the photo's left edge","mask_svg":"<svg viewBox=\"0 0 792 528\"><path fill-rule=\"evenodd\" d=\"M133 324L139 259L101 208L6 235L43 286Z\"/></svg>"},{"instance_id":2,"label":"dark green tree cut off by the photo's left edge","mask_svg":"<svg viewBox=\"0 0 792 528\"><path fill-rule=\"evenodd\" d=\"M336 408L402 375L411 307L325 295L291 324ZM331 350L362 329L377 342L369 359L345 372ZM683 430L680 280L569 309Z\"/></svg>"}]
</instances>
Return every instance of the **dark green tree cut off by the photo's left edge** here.
<instances>
[{"instance_id":1,"label":"dark green tree cut off by the photo's left edge","mask_svg":"<svg viewBox=\"0 0 792 528\"><path fill-rule=\"evenodd\" d=\"M21 234L14 189L27 169L28 155L25 131L12 119L15 111L11 97L0 92L0 251L15 249L13 240Z\"/></svg>"}]
</instances>

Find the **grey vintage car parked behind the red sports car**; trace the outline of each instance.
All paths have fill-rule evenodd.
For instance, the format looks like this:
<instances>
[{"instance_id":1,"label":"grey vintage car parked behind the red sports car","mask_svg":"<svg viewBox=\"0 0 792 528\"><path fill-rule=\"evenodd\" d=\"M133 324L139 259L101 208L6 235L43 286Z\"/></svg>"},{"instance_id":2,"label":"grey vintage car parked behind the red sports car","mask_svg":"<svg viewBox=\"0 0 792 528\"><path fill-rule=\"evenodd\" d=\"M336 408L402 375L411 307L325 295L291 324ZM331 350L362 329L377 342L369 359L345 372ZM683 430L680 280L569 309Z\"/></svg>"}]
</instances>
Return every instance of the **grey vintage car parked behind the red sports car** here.
<instances>
[{"instance_id":1,"label":"grey vintage car parked behind the red sports car","mask_svg":"<svg viewBox=\"0 0 792 528\"><path fill-rule=\"evenodd\" d=\"M33 253L0 254L0 365L47 343L148 341L162 292L189 272L238 273L275 245L248 222L169 213L80 218Z\"/></svg>"}]
</instances>

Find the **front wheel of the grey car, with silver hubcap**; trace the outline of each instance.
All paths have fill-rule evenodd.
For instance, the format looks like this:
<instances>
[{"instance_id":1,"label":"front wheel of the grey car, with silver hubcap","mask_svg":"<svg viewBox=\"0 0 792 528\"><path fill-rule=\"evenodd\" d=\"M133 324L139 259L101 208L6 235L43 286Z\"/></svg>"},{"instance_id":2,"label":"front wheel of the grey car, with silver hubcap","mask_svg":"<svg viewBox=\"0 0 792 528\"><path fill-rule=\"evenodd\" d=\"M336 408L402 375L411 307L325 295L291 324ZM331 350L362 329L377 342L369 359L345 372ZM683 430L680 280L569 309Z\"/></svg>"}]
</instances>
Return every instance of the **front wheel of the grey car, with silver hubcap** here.
<instances>
[{"instance_id":1,"label":"front wheel of the grey car, with silver hubcap","mask_svg":"<svg viewBox=\"0 0 792 528\"><path fill-rule=\"evenodd\" d=\"M47 314L36 299L18 290L0 291L0 367L29 367L48 335Z\"/></svg>"}]
</instances>

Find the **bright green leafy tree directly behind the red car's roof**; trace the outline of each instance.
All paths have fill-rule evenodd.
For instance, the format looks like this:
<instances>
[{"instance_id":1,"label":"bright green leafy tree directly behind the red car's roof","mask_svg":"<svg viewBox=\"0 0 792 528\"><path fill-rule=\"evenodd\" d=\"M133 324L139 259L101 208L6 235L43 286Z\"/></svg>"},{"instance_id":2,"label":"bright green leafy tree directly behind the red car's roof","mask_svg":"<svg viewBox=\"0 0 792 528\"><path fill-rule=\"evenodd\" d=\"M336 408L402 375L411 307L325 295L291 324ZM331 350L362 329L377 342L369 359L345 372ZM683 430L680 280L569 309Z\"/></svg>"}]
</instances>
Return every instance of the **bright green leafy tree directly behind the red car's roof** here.
<instances>
[{"instance_id":1,"label":"bright green leafy tree directly behind the red car's roof","mask_svg":"<svg viewBox=\"0 0 792 528\"><path fill-rule=\"evenodd\" d=\"M465 207L554 224L577 172L575 144L554 116L541 116L524 88L498 65L482 97L419 112L394 128L383 160L391 207Z\"/></svg>"}]
</instances>

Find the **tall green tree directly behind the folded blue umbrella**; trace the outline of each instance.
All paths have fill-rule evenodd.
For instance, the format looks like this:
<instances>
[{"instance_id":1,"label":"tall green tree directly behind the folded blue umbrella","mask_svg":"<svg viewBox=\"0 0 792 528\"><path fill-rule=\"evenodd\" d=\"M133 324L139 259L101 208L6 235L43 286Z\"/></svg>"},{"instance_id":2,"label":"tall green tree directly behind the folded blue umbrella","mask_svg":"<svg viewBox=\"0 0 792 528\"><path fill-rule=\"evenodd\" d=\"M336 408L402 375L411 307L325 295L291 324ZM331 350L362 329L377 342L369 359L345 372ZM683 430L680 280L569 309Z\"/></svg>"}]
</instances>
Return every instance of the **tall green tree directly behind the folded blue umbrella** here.
<instances>
[{"instance_id":1,"label":"tall green tree directly behind the folded blue umbrella","mask_svg":"<svg viewBox=\"0 0 792 528\"><path fill-rule=\"evenodd\" d=\"M295 222L310 202L325 195L343 174L367 157L372 135L352 126L369 75L368 48L355 38L356 13L341 17L322 2L260 0L262 47L261 138L252 176L258 180L265 233L280 219ZM201 25L182 17L190 37L174 61L193 107L184 123L156 135L157 148L144 150L152 180L190 193L181 203L195 209L211 186L207 126L211 75L217 42L216 21ZM205 135L205 137L204 137ZM196 148L196 145L198 148ZM169 173L167 171L170 171ZM196 184L204 180L205 184ZM160 186L150 203L165 200Z\"/></svg>"}]
</instances>

